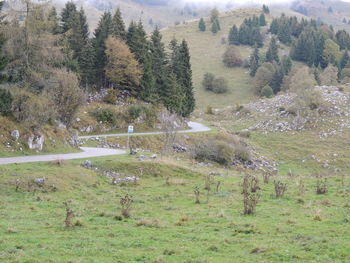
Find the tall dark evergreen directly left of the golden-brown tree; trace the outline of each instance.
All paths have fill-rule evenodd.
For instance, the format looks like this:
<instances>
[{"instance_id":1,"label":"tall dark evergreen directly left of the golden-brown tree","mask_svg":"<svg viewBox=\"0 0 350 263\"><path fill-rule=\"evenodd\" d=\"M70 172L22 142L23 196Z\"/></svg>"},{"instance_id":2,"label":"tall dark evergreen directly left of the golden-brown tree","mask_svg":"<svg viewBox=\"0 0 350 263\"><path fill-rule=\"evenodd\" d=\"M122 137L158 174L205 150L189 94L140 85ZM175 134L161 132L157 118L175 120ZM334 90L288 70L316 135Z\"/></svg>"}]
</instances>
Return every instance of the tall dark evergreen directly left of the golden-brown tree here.
<instances>
[{"instance_id":1,"label":"tall dark evergreen directly left of the golden-brown tree","mask_svg":"<svg viewBox=\"0 0 350 263\"><path fill-rule=\"evenodd\" d=\"M105 12L98 23L97 28L94 32L94 38L92 40L92 45L95 54L95 81L99 85L106 86L107 78L105 74L105 67L107 65L106 56L106 40L108 36L112 33L112 16L111 13Z\"/></svg>"}]
</instances>

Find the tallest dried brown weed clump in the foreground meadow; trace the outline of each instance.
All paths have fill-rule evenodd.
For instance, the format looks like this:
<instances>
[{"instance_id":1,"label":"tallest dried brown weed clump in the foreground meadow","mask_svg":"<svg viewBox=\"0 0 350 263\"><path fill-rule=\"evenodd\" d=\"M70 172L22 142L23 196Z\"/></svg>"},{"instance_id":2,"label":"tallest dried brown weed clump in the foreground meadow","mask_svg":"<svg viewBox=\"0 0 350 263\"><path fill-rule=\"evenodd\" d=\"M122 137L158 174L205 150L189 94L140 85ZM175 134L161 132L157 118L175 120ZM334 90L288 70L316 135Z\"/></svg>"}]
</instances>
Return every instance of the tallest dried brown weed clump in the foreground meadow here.
<instances>
[{"instance_id":1,"label":"tallest dried brown weed clump in the foreground meadow","mask_svg":"<svg viewBox=\"0 0 350 263\"><path fill-rule=\"evenodd\" d=\"M254 214L256 205L260 198L258 192L260 190L258 179L252 175L244 176L242 188L243 212L245 215Z\"/></svg>"}]
</instances>

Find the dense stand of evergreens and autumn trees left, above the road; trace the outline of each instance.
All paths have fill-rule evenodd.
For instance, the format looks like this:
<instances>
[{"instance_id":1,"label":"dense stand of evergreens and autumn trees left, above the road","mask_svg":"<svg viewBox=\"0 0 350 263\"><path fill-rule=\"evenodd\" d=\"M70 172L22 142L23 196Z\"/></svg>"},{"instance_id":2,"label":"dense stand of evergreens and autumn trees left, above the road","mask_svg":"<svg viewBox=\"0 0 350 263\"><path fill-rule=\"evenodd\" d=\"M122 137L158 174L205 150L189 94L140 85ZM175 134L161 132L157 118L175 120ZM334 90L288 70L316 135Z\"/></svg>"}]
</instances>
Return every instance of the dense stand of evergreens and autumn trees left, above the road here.
<instances>
[{"instance_id":1,"label":"dense stand of evergreens and autumn trees left, above the road","mask_svg":"<svg viewBox=\"0 0 350 263\"><path fill-rule=\"evenodd\" d=\"M148 36L141 22L126 27L119 9L105 12L90 34L84 9L72 1L60 14L31 1L2 11L1 115L32 128L54 120L69 126L85 94L102 89L184 117L194 110L185 40L174 39L168 53L158 29Z\"/></svg>"}]
</instances>

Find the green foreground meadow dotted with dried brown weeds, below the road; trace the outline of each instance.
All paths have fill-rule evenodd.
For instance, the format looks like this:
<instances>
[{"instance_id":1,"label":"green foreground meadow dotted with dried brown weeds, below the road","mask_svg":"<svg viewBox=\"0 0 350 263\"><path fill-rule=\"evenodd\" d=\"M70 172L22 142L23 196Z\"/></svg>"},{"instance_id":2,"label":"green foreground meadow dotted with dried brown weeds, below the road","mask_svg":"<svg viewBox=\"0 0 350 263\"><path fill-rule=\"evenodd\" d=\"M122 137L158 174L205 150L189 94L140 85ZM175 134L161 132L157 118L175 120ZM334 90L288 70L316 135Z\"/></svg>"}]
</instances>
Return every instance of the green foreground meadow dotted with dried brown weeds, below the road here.
<instances>
[{"instance_id":1,"label":"green foreground meadow dotted with dried brown weeds, below the road","mask_svg":"<svg viewBox=\"0 0 350 263\"><path fill-rule=\"evenodd\" d=\"M350 252L348 202L350 181L329 179L330 191L317 196L315 179L298 194L297 179L285 178L286 197L271 196L263 185L255 216L243 216L241 177L220 177L209 203L204 176L173 164L99 158L95 164L128 175L144 176L137 186L109 185L105 178L83 169L79 161L0 167L1 262L347 262ZM11 174L21 178L48 177L57 192L15 192ZM231 174L231 171L228 171ZM169 176L170 185L165 184ZM202 192L194 204L193 188ZM215 184L212 185L215 189ZM132 218L117 221L119 198L134 198ZM305 203L298 203L303 199ZM72 200L83 226L65 229L62 202ZM15 208L15 209L14 209ZM321 221L315 220L319 215ZM156 227L140 220L157 221ZM254 254L253 249L264 252ZM170 255L168 255L170 254Z\"/></svg>"}]
</instances>

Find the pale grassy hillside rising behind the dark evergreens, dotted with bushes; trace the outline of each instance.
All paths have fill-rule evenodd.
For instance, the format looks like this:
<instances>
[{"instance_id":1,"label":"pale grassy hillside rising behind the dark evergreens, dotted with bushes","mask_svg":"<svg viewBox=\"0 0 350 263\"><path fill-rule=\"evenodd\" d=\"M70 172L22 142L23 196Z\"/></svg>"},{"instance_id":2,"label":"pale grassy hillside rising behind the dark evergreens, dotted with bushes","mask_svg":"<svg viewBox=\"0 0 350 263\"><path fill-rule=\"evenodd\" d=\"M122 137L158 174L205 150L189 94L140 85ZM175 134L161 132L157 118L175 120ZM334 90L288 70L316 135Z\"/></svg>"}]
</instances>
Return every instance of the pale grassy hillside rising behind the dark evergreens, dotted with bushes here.
<instances>
[{"instance_id":1,"label":"pale grassy hillside rising behind the dark evergreens, dotted with bushes","mask_svg":"<svg viewBox=\"0 0 350 263\"><path fill-rule=\"evenodd\" d=\"M248 70L244 68L226 68L222 63L222 54L225 52L227 45L221 43L221 38L227 38L232 25L236 24L239 26L244 18L253 14L258 15L259 13L258 9L239 9L222 14L220 17L222 30L216 35L210 32L211 26L209 21L206 22L206 32L198 30L198 21L185 26L168 28L162 32L166 43L173 37L179 41L182 39L188 41L192 59L195 95L199 109L205 109L208 105L224 107L235 105L236 103L245 103L255 97L252 79L248 74ZM252 48L248 46L240 46L239 50L243 58L247 58L252 52ZM211 72L217 77L227 79L229 93L216 95L203 90L201 82L206 72Z\"/></svg>"}]
</instances>

